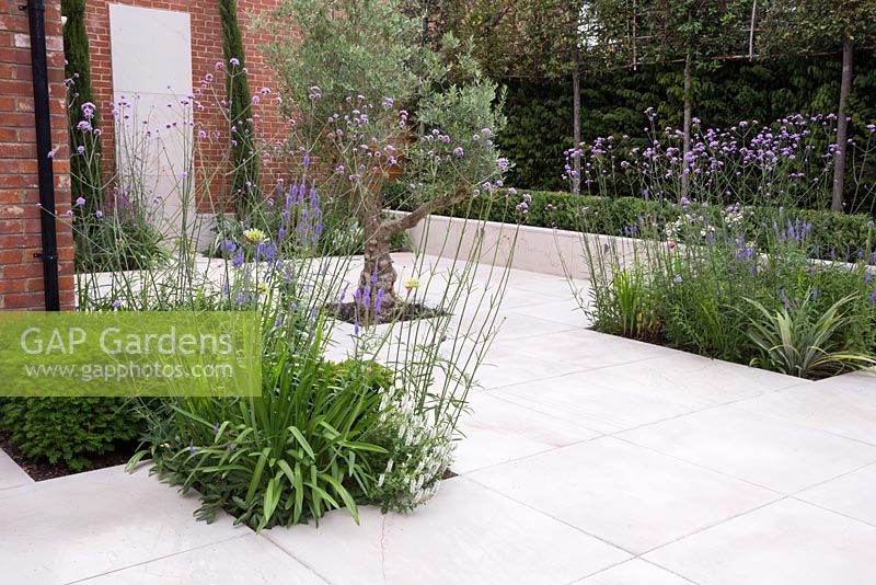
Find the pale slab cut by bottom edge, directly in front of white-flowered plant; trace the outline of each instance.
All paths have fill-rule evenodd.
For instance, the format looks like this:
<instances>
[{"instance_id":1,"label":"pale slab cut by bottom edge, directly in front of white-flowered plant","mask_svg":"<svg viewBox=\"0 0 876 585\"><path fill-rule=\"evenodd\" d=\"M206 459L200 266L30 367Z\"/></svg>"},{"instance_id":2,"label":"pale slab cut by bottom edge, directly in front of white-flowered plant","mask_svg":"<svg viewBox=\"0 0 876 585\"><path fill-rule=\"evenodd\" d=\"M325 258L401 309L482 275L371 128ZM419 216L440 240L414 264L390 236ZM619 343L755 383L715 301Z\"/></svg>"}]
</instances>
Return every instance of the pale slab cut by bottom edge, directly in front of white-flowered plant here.
<instances>
[{"instance_id":1,"label":"pale slab cut by bottom edge, directly in front of white-flowered plant","mask_svg":"<svg viewBox=\"0 0 876 585\"><path fill-rule=\"evenodd\" d=\"M266 536L335 585L564 585L630 558L464 478L407 516L360 512Z\"/></svg>"}]
</instances>

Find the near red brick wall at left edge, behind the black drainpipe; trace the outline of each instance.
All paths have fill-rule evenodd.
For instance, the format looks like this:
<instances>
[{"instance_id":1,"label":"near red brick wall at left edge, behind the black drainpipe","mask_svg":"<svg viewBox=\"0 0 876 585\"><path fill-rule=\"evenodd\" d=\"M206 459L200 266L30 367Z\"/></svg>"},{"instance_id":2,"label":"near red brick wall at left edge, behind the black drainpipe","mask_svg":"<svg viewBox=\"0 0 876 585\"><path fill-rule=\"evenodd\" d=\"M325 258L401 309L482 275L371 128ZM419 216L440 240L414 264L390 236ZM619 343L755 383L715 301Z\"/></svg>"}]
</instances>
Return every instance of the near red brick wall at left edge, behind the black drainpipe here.
<instances>
[{"instance_id":1,"label":"near red brick wall at left edge, behind the black drainpipe","mask_svg":"<svg viewBox=\"0 0 876 585\"><path fill-rule=\"evenodd\" d=\"M0 310L43 309L43 263L31 44L22 0L5 0L0 12ZM46 2L51 141L55 146L55 197L58 216L70 208L64 43L60 2ZM61 307L73 306L73 242L69 223L56 222L60 257Z\"/></svg>"}]
</instances>

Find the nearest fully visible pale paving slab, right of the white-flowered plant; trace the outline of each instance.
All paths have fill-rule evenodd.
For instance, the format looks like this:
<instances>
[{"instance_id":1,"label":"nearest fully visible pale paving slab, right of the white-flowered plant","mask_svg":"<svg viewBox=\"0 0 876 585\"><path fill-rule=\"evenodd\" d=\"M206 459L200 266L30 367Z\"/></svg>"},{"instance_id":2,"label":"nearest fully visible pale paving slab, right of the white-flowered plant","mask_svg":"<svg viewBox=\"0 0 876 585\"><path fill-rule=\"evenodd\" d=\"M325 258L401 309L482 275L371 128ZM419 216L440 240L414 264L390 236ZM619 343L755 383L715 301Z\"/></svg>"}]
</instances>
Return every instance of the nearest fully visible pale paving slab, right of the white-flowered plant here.
<instances>
[{"instance_id":1,"label":"nearest fully visible pale paving slab, right of the white-flowered plant","mask_svg":"<svg viewBox=\"0 0 876 585\"><path fill-rule=\"evenodd\" d=\"M636 554L779 497L614 437L466 477Z\"/></svg>"}]
</instances>

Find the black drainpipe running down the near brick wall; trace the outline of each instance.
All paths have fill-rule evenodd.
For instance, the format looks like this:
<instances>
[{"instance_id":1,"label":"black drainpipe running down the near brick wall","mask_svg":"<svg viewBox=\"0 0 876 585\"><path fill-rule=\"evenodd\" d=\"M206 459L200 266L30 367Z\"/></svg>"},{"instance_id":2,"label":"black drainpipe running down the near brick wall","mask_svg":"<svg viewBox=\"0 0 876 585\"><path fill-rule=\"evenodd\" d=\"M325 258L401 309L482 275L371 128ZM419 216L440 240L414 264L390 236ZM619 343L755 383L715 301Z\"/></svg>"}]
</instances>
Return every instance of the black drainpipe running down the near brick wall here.
<instances>
[{"instance_id":1,"label":"black drainpipe running down the near brick wall","mask_svg":"<svg viewBox=\"0 0 876 585\"><path fill-rule=\"evenodd\" d=\"M34 116L36 118L36 164L39 177L39 228L43 252L34 254L43 261L43 288L46 310L60 310L58 292L58 238L55 227L55 177L51 172L51 121L48 100L48 66L46 64L46 23L43 0L31 0L19 10L27 11L31 24L31 69L34 84Z\"/></svg>"}]
</instances>

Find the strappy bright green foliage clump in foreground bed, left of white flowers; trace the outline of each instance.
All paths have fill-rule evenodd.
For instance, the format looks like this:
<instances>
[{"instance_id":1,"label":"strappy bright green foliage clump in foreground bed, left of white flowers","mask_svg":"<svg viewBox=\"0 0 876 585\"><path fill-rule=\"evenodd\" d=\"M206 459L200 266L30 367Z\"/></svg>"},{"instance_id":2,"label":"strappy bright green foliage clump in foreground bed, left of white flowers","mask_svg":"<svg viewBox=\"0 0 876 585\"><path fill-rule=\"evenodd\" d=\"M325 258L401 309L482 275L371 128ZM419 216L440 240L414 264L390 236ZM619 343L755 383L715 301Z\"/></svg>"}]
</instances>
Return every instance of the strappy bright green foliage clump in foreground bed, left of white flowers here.
<instances>
[{"instance_id":1,"label":"strappy bright green foliage clump in foreground bed, left of white flowers","mask_svg":"<svg viewBox=\"0 0 876 585\"><path fill-rule=\"evenodd\" d=\"M374 364L334 365L315 343L307 355L268 359L260 398L185 399L159 414L150 455L154 472L201 495L198 517L220 511L256 530L288 526L346 507L374 483L362 437L373 426L390 374ZM168 431L169 436L160 436Z\"/></svg>"}]
</instances>

